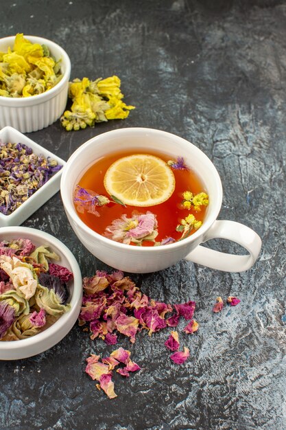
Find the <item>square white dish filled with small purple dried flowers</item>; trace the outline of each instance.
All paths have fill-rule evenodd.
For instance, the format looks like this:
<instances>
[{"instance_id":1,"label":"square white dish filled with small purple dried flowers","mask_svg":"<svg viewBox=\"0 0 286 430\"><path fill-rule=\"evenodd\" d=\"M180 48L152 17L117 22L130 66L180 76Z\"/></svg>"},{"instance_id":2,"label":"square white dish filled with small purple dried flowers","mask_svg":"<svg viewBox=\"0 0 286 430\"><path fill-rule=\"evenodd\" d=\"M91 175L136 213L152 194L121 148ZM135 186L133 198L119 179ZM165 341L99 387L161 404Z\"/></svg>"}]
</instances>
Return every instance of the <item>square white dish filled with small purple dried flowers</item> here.
<instances>
[{"instance_id":1,"label":"square white dish filled with small purple dried flowers","mask_svg":"<svg viewBox=\"0 0 286 430\"><path fill-rule=\"evenodd\" d=\"M0 130L0 227L20 225L60 190L66 162L14 128Z\"/></svg>"}]
</instances>

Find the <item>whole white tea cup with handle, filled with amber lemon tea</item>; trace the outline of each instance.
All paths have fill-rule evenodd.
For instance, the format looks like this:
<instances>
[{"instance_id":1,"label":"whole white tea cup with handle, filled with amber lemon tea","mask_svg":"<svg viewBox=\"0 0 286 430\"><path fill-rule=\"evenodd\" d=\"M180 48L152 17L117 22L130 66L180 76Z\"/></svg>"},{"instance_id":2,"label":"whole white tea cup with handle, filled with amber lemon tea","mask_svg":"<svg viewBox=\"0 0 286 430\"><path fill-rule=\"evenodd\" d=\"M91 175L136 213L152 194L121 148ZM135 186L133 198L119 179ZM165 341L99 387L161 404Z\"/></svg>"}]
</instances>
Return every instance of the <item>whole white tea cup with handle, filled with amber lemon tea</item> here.
<instances>
[{"instance_id":1,"label":"whole white tea cup with handle, filled with amber lemon tea","mask_svg":"<svg viewBox=\"0 0 286 430\"><path fill-rule=\"evenodd\" d=\"M261 249L246 225L217 220L222 183L211 160L165 131L121 128L93 137L67 161L60 192L84 247L121 271L150 273L182 259L245 271ZM201 245L213 238L237 242L248 254Z\"/></svg>"}]
</instances>

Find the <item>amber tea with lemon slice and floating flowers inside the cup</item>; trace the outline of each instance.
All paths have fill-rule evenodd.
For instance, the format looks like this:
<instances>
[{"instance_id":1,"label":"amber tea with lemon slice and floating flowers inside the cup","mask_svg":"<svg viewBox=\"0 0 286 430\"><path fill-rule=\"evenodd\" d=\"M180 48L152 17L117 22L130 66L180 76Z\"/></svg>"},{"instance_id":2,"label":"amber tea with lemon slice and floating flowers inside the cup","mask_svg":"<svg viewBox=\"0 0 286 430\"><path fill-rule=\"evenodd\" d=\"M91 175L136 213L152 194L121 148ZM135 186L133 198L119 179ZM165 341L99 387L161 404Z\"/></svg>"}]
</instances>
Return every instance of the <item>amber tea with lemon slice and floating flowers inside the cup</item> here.
<instances>
[{"instance_id":1,"label":"amber tea with lemon slice and floating flowers inside the cup","mask_svg":"<svg viewBox=\"0 0 286 430\"><path fill-rule=\"evenodd\" d=\"M127 245L169 245L203 223L208 195L183 157L123 151L97 159L75 185L82 221Z\"/></svg>"}]
</instances>

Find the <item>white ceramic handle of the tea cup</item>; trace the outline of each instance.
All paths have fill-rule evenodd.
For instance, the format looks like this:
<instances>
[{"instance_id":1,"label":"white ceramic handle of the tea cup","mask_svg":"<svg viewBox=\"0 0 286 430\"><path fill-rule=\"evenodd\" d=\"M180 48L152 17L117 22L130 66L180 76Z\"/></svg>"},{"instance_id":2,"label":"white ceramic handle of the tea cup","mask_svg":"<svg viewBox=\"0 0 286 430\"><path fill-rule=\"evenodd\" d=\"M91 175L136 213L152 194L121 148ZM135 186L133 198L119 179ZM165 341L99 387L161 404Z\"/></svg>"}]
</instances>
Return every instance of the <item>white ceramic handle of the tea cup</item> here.
<instances>
[{"instance_id":1,"label":"white ceramic handle of the tea cup","mask_svg":"<svg viewBox=\"0 0 286 430\"><path fill-rule=\"evenodd\" d=\"M235 256L199 245L185 257L185 260L225 272L243 272L250 269L259 256L261 238L246 225L235 221L217 220L206 232L203 242L215 238L232 240L246 248L249 255Z\"/></svg>"}]
</instances>

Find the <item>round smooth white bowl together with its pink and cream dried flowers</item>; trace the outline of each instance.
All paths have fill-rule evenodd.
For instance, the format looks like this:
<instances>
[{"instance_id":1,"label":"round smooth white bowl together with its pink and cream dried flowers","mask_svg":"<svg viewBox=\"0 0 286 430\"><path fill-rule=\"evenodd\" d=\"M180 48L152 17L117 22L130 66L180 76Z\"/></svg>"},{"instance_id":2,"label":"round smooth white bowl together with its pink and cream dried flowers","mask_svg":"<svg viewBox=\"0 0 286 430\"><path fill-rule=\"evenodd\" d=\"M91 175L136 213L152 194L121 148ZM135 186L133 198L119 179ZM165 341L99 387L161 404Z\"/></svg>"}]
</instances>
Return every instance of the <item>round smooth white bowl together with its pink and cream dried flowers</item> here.
<instances>
[{"instance_id":1,"label":"round smooth white bowl together with its pink and cream dried flowers","mask_svg":"<svg viewBox=\"0 0 286 430\"><path fill-rule=\"evenodd\" d=\"M66 245L37 229L0 228L0 360L56 345L81 304L80 267Z\"/></svg>"}]
</instances>

